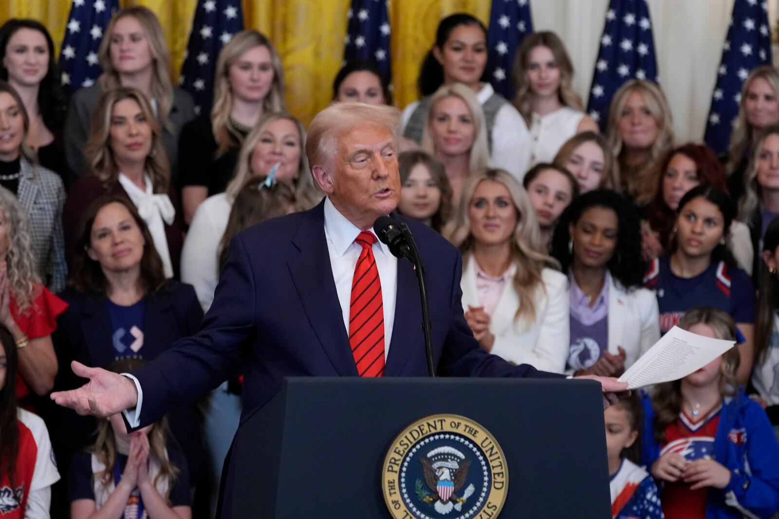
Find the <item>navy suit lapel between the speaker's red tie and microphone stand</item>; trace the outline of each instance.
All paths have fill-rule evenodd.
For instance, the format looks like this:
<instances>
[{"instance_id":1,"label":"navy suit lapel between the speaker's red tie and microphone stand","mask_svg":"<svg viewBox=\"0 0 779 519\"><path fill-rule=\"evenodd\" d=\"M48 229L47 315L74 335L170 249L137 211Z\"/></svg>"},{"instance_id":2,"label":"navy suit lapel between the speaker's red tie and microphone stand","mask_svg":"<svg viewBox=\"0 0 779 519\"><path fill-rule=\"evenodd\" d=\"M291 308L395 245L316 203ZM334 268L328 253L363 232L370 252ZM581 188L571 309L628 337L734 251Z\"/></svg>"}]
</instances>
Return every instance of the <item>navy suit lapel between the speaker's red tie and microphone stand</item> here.
<instances>
[{"instance_id":1,"label":"navy suit lapel between the speaker's red tie and microphone stand","mask_svg":"<svg viewBox=\"0 0 779 519\"><path fill-rule=\"evenodd\" d=\"M395 322L390 337L390 353L387 355L384 373L399 376L414 348L425 348L421 334L422 309L418 295L414 266L410 261L397 260L397 295L395 298ZM423 342L419 342L422 338Z\"/></svg>"}]
</instances>

